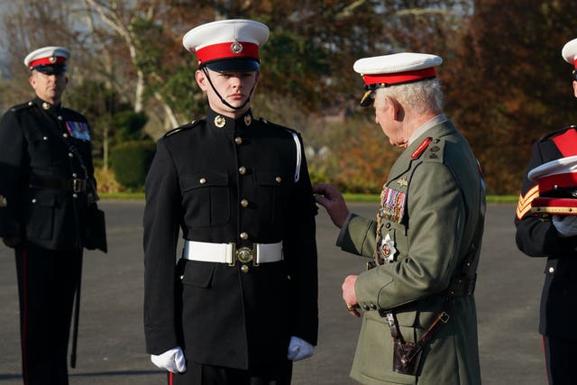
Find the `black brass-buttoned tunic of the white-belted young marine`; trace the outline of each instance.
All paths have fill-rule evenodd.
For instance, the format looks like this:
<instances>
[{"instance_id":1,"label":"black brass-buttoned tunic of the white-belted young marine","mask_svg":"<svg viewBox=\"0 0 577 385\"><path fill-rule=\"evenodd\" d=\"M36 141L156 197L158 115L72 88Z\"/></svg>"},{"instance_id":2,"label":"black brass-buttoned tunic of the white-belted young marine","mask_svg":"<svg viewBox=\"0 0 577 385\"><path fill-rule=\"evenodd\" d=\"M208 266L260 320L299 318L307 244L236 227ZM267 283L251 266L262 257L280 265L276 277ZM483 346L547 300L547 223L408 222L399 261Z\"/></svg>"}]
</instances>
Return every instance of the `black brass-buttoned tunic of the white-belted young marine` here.
<instances>
[{"instance_id":1,"label":"black brass-buttoned tunic of the white-belted young marine","mask_svg":"<svg viewBox=\"0 0 577 385\"><path fill-rule=\"evenodd\" d=\"M316 344L315 215L297 132L209 111L164 135L143 217L148 353L181 346L188 361L248 369L286 360L291 335ZM284 260L247 272L240 262L175 266L179 231L237 247L282 242Z\"/></svg>"}]
</instances>

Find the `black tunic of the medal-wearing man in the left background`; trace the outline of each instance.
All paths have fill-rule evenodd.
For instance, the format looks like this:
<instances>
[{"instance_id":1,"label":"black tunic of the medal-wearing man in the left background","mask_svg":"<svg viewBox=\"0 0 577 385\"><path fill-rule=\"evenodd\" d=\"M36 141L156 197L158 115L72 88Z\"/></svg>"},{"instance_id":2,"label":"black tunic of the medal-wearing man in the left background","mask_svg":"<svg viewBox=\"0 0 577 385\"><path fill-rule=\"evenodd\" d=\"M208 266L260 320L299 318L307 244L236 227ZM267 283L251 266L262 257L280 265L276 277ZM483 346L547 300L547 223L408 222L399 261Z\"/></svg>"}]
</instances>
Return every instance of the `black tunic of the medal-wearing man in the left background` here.
<instances>
[{"instance_id":1,"label":"black tunic of the medal-wearing man in the left background","mask_svg":"<svg viewBox=\"0 0 577 385\"><path fill-rule=\"evenodd\" d=\"M89 140L72 136L67 125L87 130L87 119L38 97L3 115L0 236L18 235L50 250L82 250L87 192L74 194L70 180L96 181Z\"/></svg>"}]
</instances>

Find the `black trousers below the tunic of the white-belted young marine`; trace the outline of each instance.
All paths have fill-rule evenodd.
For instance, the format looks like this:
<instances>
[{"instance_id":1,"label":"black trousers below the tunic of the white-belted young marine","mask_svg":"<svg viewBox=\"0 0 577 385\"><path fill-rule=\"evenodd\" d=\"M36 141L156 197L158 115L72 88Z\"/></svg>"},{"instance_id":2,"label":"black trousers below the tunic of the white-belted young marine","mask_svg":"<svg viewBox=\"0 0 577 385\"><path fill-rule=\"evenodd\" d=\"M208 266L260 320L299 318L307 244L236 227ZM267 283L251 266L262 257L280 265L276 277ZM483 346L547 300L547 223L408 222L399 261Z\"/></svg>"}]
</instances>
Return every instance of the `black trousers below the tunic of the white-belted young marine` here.
<instances>
[{"instance_id":1,"label":"black trousers below the tunic of the white-belted young marine","mask_svg":"<svg viewBox=\"0 0 577 385\"><path fill-rule=\"evenodd\" d=\"M187 362L185 373L168 373L169 385L289 385L292 362L279 362L248 371Z\"/></svg>"}]
</instances>

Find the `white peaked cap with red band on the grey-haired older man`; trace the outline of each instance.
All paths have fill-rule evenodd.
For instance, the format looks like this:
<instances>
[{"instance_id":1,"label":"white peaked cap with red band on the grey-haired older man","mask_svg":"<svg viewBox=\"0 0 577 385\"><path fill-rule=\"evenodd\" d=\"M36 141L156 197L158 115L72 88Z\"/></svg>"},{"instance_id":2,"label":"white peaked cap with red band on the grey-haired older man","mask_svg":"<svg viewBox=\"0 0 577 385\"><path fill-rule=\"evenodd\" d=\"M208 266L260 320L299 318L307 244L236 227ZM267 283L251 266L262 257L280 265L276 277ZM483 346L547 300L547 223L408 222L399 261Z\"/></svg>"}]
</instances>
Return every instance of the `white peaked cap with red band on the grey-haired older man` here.
<instances>
[{"instance_id":1,"label":"white peaked cap with red band on the grey-haired older man","mask_svg":"<svg viewBox=\"0 0 577 385\"><path fill-rule=\"evenodd\" d=\"M369 96L379 87L390 87L435 78L435 66L443 63L436 55L401 52L390 55L362 58L354 62L353 69L362 75L367 92L361 105L371 105Z\"/></svg>"}]
</instances>

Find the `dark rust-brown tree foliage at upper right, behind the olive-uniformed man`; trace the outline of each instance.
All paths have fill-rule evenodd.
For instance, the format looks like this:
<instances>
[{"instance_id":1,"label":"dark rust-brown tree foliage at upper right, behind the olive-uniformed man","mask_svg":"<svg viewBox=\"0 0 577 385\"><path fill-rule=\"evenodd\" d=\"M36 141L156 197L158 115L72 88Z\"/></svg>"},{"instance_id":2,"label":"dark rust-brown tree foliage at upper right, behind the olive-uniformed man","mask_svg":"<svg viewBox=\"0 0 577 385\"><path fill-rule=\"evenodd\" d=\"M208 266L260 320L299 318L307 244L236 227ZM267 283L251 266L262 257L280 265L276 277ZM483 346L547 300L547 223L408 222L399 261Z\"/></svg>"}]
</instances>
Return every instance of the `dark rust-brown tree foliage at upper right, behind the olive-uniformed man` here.
<instances>
[{"instance_id":1,"label":"dark rust-brown tree foliage at upper right, behind the olive-uniformed man","mask_svg":"<svg viewBox=\"0 0 577 385\"><path fill-rule=\"evenodd\" d=\"M532 143L572 124L575 1L475 1L449 72L447 110L481 160L490 193L515 194Z\"/></svg>"}]
</instances>

